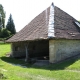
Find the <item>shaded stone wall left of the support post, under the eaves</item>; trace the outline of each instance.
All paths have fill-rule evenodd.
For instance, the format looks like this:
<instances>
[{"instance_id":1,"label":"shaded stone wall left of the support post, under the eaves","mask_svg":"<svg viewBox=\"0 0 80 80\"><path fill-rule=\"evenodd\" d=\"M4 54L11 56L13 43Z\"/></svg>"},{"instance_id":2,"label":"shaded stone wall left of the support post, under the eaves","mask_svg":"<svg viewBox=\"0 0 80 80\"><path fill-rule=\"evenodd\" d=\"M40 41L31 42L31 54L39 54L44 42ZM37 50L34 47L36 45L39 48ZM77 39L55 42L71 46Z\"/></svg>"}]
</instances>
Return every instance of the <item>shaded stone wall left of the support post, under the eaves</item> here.
<instances>
[{"instance_id":1,"label":"shaded stone wall left of the support post, under the eaves","mask_svg":"<svg viewBox=\"0 0 80 80\"><path fill-rule=\"evenodd\" d=\"M12 49L12 56L13 57L25 57L26 50L25 50L25 43L24 42L17 42L11 44Z\"/></svg>"}]
</instances>

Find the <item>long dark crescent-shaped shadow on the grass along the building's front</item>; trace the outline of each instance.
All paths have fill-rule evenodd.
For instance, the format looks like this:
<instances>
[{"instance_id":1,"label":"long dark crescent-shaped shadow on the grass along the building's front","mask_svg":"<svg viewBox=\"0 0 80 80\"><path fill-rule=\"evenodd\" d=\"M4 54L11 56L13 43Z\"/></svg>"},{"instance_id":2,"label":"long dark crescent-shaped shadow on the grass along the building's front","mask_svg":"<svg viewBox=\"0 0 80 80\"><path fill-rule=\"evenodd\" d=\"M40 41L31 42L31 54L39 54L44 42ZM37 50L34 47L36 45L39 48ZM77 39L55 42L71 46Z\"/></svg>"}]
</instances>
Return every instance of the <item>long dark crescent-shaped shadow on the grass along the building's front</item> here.
<instances>
[{"instance_id":1,"label":"long dark crescent-shaped shadow on the grass along the building's front","mask_svg":"<svg viewBox=\"0 0 80 80\"><path fill-rule=\"evenodd\" d=\"M68 66L72 65L75 61L77 61L79 58L72 58L67 59L58 63L49 64L45 66L36 66L33 64L27 64L23 60L10 58L10 57L1 57L1 60L11 63L11 64L20 64L22 66L26 66L27 68L35 68L35 69L46 69L46 70L63 70L67 68Z\"/></svg>"}]
</instances>

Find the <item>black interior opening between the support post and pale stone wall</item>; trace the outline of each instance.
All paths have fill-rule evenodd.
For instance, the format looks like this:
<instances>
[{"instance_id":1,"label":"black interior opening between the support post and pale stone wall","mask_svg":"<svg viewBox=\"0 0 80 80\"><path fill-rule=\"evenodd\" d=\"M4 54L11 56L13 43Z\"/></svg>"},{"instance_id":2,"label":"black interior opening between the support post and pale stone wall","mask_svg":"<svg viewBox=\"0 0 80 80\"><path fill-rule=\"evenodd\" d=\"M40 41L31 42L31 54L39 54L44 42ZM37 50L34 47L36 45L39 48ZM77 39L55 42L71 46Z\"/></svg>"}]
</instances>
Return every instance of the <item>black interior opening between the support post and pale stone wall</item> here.
<instances>
[{"instance_id":1,"label":"black interior opening between the support post and pale stone wall","mask_svg":"<svg viewBox=\"0 0 80 80\"><path fill-rule=\"evenodd\" d=\"M30 42L28 56L29 58L36 58L38 60L49 60L49 41Z\"/></svg>"}]
</instances>

